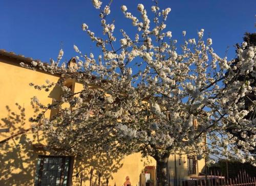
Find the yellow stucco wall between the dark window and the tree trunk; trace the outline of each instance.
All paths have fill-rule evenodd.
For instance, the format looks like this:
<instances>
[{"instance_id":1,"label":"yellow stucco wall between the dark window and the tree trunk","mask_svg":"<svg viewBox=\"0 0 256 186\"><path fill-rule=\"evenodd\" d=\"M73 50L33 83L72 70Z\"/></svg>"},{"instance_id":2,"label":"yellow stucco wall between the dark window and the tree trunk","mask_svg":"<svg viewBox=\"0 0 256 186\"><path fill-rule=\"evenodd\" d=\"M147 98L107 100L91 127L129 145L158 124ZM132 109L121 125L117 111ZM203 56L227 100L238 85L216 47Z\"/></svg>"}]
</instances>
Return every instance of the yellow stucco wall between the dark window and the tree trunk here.
<instances>
[{"instance_id":1,"label":"yellow stucco wall between the dark window and the tree trunk","mask_svg":"<svg viewBox=\"0 0 256 186\"><path fill-rule=\"evenodd\" d=\"M144 167L146 165L156 165L153 158L142 158L140 153L125 156L125 158L120 159L120 162L118 161L119 158L117 158L119 163L116 163L117 161L113 160L113 158L114 157L94 157L94 160L89 158L90 161L88 159L79 160L76 158L74 161L73 174L80 173L82 171L84 175L82 179L83 185L90 185L90 170L93 167L93 185L98 184L98 174L100 171L102 174L102 185L106 185L106 178L109 178L108 185L114 186L114 184L116 184L116 186L122 186L125 181L125 177L129 176L132 185L139 186L140 174L144 170ZM111 175L109 174L109 171L112 172ZM80 185L80 177L76 178L73 176L72 181L73 185Z\"/></svg>"}]
</instances>

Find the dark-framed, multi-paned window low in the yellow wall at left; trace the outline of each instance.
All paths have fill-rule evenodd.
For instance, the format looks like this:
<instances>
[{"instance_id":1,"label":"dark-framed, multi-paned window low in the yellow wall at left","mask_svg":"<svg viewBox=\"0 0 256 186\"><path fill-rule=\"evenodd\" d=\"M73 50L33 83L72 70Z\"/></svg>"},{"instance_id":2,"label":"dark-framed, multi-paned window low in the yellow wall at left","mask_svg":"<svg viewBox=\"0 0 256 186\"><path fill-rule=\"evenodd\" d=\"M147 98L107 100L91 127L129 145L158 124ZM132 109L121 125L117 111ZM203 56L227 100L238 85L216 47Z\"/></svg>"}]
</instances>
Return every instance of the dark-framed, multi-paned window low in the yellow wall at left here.
<instances>
[{"instance_id":1,"label":"dark-framed, multi-paned window low in the yellow wall at left","mask_svg":"<svg viewBox=\"0 0 256 186\"><path fill-rule=\"evenodd\" d=\"M69 156L38 156L35 185L68 185L69 165Z\"/></svg>"}]
</instances>

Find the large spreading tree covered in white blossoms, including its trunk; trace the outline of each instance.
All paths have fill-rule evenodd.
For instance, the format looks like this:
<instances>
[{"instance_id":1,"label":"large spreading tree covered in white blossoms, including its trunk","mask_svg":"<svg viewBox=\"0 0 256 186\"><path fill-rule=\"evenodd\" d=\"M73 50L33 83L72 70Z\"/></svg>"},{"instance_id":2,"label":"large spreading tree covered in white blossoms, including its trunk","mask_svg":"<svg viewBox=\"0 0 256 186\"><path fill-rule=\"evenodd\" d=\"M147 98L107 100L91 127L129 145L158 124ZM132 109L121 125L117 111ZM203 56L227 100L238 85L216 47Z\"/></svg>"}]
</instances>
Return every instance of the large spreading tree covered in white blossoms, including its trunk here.
<instances>
[{"instance_id":1,"label":"large spreading tree covered in white blossoms, including its trunk","mask_svg":"<svg viewBox=\"0 0 256 186\"><path fill-rule=\"evenodd\" d=\"M214 52L210 38L204 41L201 29L197 39L185 40L178 50L177 40L172 40L172 32L165 29L171 9L160 10L157 2L151 8L153 20L148 19L142 4L137 7L141 18L122 6L124 17L131 19L137 31L129 36L120 30L122 38L117 39L115 25L107 19L112 2L105 7L99 0L92 2L100 11L103 35L96 36L85 23L82 30L101 48L98 57L83 54L74 46L77 64L69 68L59 64L62 49L51 65L23 64L60 73L63 79L75 78L83 85L81 91L73 93L59 81L63 94L52 105L33 99L44 112L32 121L43 123L37 128L48 135L49 149L58 147L80 155L140 152L155 158L161 185L168 183L167 160L176 151L196 154L198 159L215 154L254 163L250 150L255 148L256 120L244 118L247 111L243 102L238 103L251 92L254 80L243 82L235 77L252 73L255 46L241 48L239 61L232 65L233 60ZM182 34L185 38L186 32ZM234 79L232 84L228 84L230 79ZM31 85L49 90L55 84ZM72 109L61 109L65 102ZM255 109L255 101L251 107ZM49 119L44 113L52 108L59 112ZM230 123L236 126L233 132L249 130L252 135L247 138L242 132L244 140L237 139L226 130Z\"/></svg>"}]
</instances>

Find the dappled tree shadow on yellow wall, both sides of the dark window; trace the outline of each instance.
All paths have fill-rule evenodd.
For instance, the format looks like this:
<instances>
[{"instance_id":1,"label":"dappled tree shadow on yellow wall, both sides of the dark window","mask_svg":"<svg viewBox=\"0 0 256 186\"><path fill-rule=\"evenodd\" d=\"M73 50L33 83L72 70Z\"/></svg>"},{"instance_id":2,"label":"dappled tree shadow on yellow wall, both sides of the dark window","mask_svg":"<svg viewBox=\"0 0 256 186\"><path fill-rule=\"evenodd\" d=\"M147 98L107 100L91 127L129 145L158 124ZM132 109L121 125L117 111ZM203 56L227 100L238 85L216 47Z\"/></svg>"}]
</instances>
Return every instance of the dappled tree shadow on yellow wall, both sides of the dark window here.
<instances>
[{"instance_id":1,"label":"dappled tree shadow on yellow wall, both sides of the dark window","mask_svg":"<svg viewBox=\"0 0 256 186\"><path fill-rule=\"evenodd\" d=\"M7 106L6 109L9 114L0 121L0 128L10 128L8 134L0 134L1 140L18 134L14 138L9 138L8 141L0 142L0 185L33 185L38 155L49 154L44 148L36 147L36 144L43 144L42 141L45 140L42 139L47 138L47 136L42 135L40 131L33 131L32 129L26 131L25 129L30 128L30 126L25 116L25 108L22 108L17 103L16 106L17 113L11 111ZM32 108L34 115L37 115L39 109L33 104ZM70 184L72 182L80 183L81 173L83 175L82 182L87 181L89 183L90 171L93 168L91 185L98 185L99 172L101 173L101 185L106 185L106 178L113 179L112 174L122 167L122 157L111 154L76 156L73 160ZM78 178L76 177L77 173L79 174Z\"/></svg>"}]
</instances>

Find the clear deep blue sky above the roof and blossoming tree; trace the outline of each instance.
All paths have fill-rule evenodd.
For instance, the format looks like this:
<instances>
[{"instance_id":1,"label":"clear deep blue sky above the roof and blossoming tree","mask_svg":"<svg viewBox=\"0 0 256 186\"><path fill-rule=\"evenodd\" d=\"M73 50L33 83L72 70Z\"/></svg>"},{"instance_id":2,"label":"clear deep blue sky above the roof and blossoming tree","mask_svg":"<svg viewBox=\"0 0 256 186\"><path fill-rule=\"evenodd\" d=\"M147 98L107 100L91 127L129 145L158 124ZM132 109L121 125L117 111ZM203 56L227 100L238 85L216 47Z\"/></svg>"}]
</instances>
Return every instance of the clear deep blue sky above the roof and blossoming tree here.
<instances>
[{"instance_id":1,"label":"clear deep blue sky above the roof and blossoming tree","mask_svg":"<svg viewBox=\"0 0 256 186\"><path fill-rule=\"evenodd\" d=\"M106 5L108 1L103 1ZM153 16L151 0L114 0L109 20L115 19L116 33L123 28L127 33L136 29L131 21L124 18L120 6L139 16L137 4L144 4L149 15ZM182 39L182 31L187 38L197 37L197 31L205 29L213 40L213 47L220 56L225 55L229 46L228 58L234 57L233 45L242 42L245 32L255 32L256 1L247 0L159 0L160 8L172 8L167 19L167 30L173 32L173 39ZM49 62L56 59L61 42L64 60L76 56L73 44L83 53L99 51L81 24L87 23L90 30L101 35L100 22L90 0L1 0L0 1L0 48L23 54L26 57ZM119 34L118 34L119 35ZM179 44L179 43L178 43Z\"/></svg>"}]
</instances>

